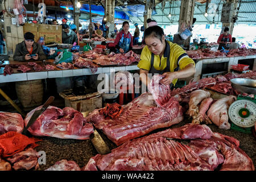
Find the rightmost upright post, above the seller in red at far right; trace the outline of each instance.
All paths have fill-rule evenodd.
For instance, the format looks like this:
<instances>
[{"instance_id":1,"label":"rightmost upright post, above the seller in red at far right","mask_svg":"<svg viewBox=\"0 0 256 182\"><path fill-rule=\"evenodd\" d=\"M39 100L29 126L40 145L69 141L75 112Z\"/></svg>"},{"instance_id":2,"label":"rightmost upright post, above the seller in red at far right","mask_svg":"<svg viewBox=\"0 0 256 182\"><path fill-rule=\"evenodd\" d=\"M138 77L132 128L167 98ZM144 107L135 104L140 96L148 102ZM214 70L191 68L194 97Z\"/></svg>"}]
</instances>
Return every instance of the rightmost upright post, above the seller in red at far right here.
<instances>
[{"instance_id":1,"label":"rightmost upright post, above the seller in red at far right","mask_svg":"<svg viewBox=\"0 0 256 182\"><path fill-rule=\"evenodd\" d=\"M231 35L234 29L233 17L236 15L237 3L238 0L227 0L221 11L222 30L229 27L229 34Z\"/></svg>"}]
</instances>

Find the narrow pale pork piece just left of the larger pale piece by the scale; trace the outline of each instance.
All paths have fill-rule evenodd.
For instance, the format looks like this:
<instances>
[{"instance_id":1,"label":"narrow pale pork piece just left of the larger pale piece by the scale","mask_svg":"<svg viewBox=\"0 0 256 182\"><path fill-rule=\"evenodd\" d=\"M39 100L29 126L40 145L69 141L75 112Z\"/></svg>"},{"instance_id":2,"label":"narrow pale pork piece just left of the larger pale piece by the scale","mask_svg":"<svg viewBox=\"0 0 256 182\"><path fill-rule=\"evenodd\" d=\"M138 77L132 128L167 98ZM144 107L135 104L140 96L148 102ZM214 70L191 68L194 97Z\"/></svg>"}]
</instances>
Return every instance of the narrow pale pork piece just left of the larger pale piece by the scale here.
<instances>
[{"instance_id":1,"label":"narrow pale pork piece just left of the larger pale piece by the scale","mask_svg":"<svg viewBox=\"0 0 256 182\"><path fill-rule=\"evenodd\" d=\"M197 105L208 97L210 97L210 93L205 90L195 90L191 92L191 96L188 103L188 115L190 115L193 119L197 118L197 115L199 113L199 107Z\"/></svg>"}]
</instances>

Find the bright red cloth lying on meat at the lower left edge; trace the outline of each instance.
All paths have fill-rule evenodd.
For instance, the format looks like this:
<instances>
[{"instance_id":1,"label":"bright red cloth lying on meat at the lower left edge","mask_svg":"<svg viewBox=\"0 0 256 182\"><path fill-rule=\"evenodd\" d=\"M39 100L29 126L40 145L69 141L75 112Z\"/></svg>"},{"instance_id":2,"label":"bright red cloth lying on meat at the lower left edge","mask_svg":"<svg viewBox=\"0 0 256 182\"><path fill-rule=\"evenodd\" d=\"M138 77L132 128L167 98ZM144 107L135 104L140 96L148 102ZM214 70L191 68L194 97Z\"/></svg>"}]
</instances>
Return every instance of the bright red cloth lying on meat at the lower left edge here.
<instances>
[{"instance_id":1,"label":"bright red cloth lying on meat at the lower left edge","mask_svg":"<svg viewBox=\"0 0 256 182\"><path fill-rule=\"evenodd\" d=\"M41 139L28 138L26 135L22 135L15 131L9 131L0 135L0 156L3 158L12 156L18 152L21 152L28 145L31 148L38 146L35 142L42 141Z\"/></svg>"}]
</instances>

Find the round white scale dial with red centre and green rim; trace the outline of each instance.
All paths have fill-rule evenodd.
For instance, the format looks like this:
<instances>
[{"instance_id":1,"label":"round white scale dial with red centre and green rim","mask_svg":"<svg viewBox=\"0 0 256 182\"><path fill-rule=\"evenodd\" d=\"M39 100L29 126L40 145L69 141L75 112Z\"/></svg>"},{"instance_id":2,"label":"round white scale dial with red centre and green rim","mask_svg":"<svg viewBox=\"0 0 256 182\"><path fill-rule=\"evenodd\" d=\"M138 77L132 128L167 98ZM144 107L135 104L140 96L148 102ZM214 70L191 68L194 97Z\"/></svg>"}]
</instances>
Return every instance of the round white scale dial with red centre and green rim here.
<instances>
[{"instance_id":1,"label":"round white scale dial with red centre and green rim","mask_svg":"<svg viewBox=\"0 0 256 182\"><path fill-rule=\"evenodd\" d=\"M229 118L237 126L252 127L256 121L256 104L249 100L237 100L229 107Z\"/></svg>"}]
</instances>

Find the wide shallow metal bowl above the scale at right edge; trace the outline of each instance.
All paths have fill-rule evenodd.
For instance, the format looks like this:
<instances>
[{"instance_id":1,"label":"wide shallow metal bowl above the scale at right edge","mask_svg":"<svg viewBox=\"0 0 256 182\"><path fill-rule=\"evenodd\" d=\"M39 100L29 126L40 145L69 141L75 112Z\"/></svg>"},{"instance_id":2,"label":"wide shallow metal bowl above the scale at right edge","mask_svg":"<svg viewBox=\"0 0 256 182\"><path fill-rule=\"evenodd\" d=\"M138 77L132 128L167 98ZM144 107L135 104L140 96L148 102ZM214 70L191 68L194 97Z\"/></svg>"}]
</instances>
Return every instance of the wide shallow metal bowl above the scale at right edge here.
<instances>
[{"instance_id":1,"label":"wide shallow metal bowl above the scale at right edge","mask_svg":"<svg viewBox=\"0 0 256 182\"><path fill-rule=\"evenodd\" d=\"M256 80L249 78L233 78L230 80L234 89L247 94L256 94Z\"/></svg>"}]
</instances>

